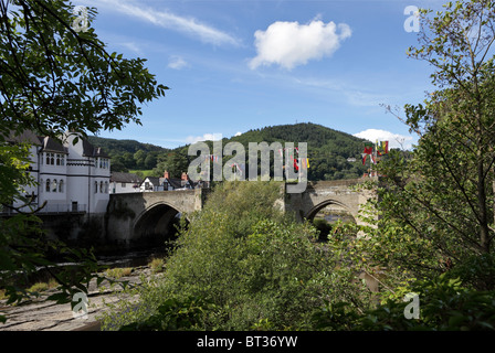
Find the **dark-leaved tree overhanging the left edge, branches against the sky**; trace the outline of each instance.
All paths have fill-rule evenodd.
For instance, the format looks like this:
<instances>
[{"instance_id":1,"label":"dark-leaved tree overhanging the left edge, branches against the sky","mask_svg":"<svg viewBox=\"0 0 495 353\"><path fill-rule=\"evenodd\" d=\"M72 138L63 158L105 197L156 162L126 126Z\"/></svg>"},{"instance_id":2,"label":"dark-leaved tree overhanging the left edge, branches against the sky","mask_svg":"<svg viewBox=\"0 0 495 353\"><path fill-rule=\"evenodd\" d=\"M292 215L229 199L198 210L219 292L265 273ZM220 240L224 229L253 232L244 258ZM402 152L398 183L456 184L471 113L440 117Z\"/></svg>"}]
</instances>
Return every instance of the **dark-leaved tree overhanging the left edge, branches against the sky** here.
<instances>
[{"instance_id":1,"label":"dark-leaved tree overhanging the left edge, branches against the sky","mask_svg":"<svg viewBox=\"0 0 495 353\"><path fill-rule=\"evenodd\" d=\"M157 83L144 58L106 51L91 26L94 8L87 11L87 31L74 25L73 10L62 0L0 1L0 146L24 130L60 138L66 131L86 136L140 124L140 104L165 95L167 87ZM22 196L19 188L3 186L27 182L20 178L25 169L20 161L27 158L22 146L0 150L6 207ZM27 233L19 225L30 222L36 222L32 214L0 220L1 279L4 269L46 264L35 246L22 245ZM9 293L18 299L15 290Z\"/></svg>"}]
</instances>

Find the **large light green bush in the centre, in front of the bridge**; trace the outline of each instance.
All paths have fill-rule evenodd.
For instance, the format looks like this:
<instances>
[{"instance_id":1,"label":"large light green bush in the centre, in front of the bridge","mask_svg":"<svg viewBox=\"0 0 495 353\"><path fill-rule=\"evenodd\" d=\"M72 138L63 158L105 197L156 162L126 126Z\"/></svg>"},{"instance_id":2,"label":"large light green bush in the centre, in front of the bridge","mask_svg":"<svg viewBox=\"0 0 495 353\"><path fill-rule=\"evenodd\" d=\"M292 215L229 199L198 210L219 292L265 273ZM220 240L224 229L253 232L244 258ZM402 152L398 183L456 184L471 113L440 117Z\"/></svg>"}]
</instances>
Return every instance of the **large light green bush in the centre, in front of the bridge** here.
<instances>
[{"instance_id":1,"label":"large light green bush in the centre, in front of the bridge","mask_svg":"<svg viewBox=\"0 0 495 353\"><path fill-rule=\"evenodd\" d=\"M148 323L169 298L211 302L207 330L312 329L312 312L325 300L367 307L367 289L351 270L336 270L337 259L315 242L317 231L276 206L280 192L275 182L219 185L190 215L162 276L139 291L138 311L124 309L105 320L107 328Z\"/></svg>"}]
</instances>

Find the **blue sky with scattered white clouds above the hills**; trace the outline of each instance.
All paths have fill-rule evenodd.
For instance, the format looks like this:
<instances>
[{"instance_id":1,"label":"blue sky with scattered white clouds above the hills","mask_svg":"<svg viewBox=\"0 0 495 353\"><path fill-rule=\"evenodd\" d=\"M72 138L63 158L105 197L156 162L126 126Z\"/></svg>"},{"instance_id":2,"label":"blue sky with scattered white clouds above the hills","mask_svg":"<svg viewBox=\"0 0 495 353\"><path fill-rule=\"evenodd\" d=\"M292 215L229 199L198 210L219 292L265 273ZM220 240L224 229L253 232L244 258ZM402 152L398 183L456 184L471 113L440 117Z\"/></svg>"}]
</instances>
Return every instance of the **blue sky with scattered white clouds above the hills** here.
<instances>
[{"instance_id":1,"label":"blue sky with scattered white clouds above the hills","mask_svg":"<svg viewBox=\"0 0 495 353\"><path fill-rule=\"evenodd\" d=\"M74 0L110 52L145 57L171 89L143 107L143 126L99 136L167 148L213 133L314 122L415 140L380 104L421 103L432 67L408 58L408 6L443 1ZM304 142L304 141L294 141Z\"/></svg>"}]
</instances>

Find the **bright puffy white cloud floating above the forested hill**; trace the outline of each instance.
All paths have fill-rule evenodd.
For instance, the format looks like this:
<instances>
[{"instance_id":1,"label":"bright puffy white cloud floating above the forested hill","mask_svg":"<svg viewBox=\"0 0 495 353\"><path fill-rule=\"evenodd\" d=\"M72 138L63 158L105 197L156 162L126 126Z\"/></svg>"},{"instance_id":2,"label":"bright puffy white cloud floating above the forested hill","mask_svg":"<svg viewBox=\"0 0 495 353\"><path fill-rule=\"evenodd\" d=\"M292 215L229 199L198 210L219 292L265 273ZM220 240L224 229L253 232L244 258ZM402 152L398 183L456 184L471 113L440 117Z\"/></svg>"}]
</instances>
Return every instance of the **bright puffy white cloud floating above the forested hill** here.
<instances>
[{"instance_id":1,"label":"bright puffy white cloud floating above the forested hill","mask_svg":"<svg viewBox=\"0 0 495 353\"><path fill-rule=\"evenodd\" d=\"M308 24L277 21L266 31L254 33L257 55L249 66L254 69L260 65L278 64L292 69L309 60L330 56L350 35L351 30L345 23L324 23L316 19Z\"/></svg>"}]
</instances>

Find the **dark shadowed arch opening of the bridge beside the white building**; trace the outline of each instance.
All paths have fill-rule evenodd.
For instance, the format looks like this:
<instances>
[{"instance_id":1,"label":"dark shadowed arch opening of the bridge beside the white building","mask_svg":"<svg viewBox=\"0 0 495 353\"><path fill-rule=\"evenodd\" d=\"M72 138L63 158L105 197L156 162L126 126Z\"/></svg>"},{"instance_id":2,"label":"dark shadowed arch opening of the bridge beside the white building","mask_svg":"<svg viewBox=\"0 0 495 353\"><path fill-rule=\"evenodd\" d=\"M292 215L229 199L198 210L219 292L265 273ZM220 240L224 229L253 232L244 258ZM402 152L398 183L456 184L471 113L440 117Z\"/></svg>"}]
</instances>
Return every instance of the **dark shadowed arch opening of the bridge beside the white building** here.
<instances>
[{"instance_id":1,"label":"dark shadowed arch opening of the bridge beside the white building","mask_svg":"<svg viewBox=\"0 0 495 353\"><path fill-rule=\"evenodd\" d=\"M175 225L183 213L166 202L157 202L138 214L133 224L130 243L140 247L162 246L177 235Z\"/></svg>"}]
</instances>

